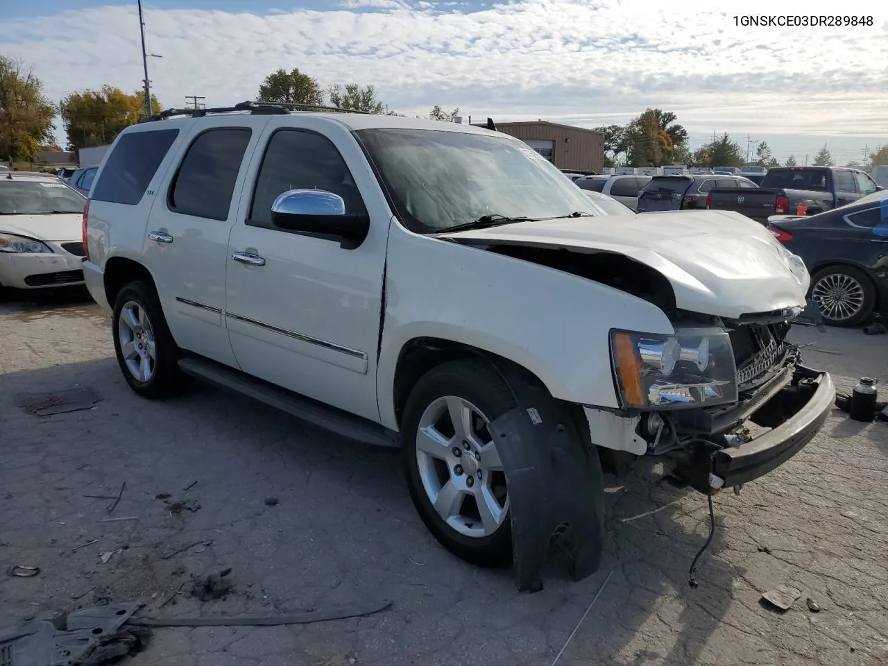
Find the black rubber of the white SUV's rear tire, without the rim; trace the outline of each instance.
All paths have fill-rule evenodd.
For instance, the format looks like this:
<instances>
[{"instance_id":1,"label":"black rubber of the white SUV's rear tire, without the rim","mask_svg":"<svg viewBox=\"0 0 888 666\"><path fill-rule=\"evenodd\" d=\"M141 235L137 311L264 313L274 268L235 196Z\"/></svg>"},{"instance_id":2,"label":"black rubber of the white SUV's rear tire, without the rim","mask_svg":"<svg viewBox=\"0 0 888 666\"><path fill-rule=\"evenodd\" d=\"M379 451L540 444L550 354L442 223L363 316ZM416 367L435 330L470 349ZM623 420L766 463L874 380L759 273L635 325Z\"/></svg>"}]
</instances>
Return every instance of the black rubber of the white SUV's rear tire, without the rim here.
<instances>
[{"instance_id":1,"label":"black rubber of the white SUV's rear tire, without the rim","mask_svg":"<svg viewBox=\"0 0 888 666\"><path fill-rule=\"evenodd\" d=\"M154 370L147 381L140 381L135 377L123 357L121 313L128 303L135 303L139 309L144 310L148 321L150 321L150 329L154 334ZM178 395L186 390L190 378L178 369L181 350L170 333L166 318L163 316L160 299L157 297L157 291L151 281L134 281L123 286L115 298L111 327L117 364L120 366L123 378L126 379L126 383L133 391L139 393L143 398L159 399Z\"/></svg>"}]
</instances>

